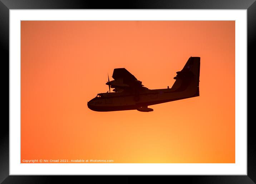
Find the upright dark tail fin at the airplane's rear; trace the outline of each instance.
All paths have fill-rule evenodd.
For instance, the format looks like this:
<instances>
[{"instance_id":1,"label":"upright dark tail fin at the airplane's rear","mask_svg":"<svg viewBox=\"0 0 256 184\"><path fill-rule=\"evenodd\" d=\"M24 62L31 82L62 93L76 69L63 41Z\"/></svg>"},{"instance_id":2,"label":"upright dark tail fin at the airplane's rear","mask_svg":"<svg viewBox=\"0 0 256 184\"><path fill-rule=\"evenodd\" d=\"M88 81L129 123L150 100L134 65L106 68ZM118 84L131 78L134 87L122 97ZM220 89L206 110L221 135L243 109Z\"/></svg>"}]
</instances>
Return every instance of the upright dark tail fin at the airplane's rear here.
<instances>
[{"instance_id":1,"label":"upright dark tail fin at the airplane's rear","mask_svg":"<svg viewBox=\"0 0 256 184\"><path fill-rule=\"evenodd\" d=\"M183 69L176 72L176 81L172 86L173 92L188 91L188 96L199 96L200 57L190 57ZM194 95L194 96L193 96Z\"/></svg>"}]
</instances>

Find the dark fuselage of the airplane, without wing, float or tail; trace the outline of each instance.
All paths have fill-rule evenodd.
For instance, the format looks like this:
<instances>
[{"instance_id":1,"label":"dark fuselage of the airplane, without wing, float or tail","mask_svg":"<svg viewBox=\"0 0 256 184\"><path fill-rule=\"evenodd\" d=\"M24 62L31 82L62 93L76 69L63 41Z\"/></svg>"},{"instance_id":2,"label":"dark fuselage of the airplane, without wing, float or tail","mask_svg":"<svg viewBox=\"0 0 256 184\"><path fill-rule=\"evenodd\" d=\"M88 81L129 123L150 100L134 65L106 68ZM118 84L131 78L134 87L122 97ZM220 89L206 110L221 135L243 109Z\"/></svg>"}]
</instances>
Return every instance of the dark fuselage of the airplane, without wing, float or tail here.
<instances>
[{"instance_id":1,"label":"dark fuselage of the airplane, without wing, float or tail","mask_svg":"<svg viewBox=\"0 0 256 184\"><path fill-rule=\"evenodd\" d=\"M100 97L95 97L88 102L88 108L100 112L135 110L140 107L196 96L199 96L199 87L192 93L189 91L189 94L187 90L177 92L171 88L146 89L138 95L125 92L100 93Z\"/></svg>"}]
</instances>

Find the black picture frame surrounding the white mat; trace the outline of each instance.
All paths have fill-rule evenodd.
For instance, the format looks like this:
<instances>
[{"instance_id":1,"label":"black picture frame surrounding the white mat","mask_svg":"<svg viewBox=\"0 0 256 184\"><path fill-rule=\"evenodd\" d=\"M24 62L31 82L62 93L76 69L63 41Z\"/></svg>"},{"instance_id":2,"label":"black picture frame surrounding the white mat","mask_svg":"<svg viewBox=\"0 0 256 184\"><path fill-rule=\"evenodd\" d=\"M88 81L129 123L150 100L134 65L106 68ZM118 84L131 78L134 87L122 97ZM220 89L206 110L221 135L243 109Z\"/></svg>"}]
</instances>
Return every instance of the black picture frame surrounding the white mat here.
<instances>
[{"instance_id":1,"label":"black picture frame surrounding the white mat","mask_svg":"<svg viewBox=\"0 0 256 184\"><path fill-rule=\"evenodd\" d=\"M144 182L159 182L159 179L167 181L177 180L179 183L256 183L256 145L254 121L249 121L255 112L252 105L255 97L252 96L251 84L254 84L254 76L249 76L255 68L256 40L256 2L255 0L159 0L159 1L119 1L97 2L87 0L0 0L0 45L3 88L2 99L9 97L9 10L10 9L246 9L247 10L247 175L179 175L159 177L142 177ZM4 56L4 57L3 57ZM246 61L245 61L246 62ZM8 80L3 71L8 71ZM250 72L249 72L250 71ZM248 85L250 84L250 85ZM6 102L7 103L7 102ZM2 103L3 104L3 103ZM8 102L9 107L9 102ZM250 108L249 108L250 107ZM9 108L4 106L3 115L9 119ZM2 118L3 119L3 118ZM246 122L244 122L246 123ZM46 175L9 175L9 121L1 121L0 134L0 183L51 183L57 179L58 183L85 183L93 179L93 183L131 183L138 180L138 176L46 176ZM141 178L140 178L141 179ZM55 183L55 182L54 182Z\"/></svg>"}]
</instances>

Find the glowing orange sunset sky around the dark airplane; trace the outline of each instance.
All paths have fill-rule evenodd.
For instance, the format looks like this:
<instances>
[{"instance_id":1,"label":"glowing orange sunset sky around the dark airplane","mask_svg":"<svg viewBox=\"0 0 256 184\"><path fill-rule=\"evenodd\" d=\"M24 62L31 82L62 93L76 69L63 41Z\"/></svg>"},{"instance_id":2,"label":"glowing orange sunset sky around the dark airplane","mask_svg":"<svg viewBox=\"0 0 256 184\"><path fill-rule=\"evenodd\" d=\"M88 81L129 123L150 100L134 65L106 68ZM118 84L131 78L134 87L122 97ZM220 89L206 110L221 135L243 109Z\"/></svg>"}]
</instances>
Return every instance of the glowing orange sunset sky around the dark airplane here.
<instances>
[{"instance_id":1,"label":"glowing orange sunset sky around the dark airplane","mask_svg":"<svg viewBox=\"0 0 256 184\"><path fill-rule=\"evenodd\" d=\"M114 68L167 88L190 56L199 97L88 109ZM235 163L235 21L21 21L23 159Z\"/></svg>"}]
</instances>

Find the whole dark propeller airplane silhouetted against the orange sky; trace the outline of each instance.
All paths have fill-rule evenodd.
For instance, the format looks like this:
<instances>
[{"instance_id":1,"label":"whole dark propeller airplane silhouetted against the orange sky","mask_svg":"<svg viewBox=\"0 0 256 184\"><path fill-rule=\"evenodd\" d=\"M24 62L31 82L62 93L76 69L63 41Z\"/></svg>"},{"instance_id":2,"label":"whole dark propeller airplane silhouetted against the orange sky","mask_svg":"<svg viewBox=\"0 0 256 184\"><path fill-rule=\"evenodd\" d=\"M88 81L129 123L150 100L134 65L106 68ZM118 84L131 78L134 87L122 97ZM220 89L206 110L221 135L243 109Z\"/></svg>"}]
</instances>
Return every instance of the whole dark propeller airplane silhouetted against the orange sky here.
<instances>
[{"instance_id":1,"label":"whole dark propeller airplane silhouetted against the orange sky","mask_svg":"<svg viewBox=\"0 0 256 184\"><path fill-rule=\"evenodd\" d=\"M171 88L149 90L125 68L115 68L109 92L99 93L87 106L93 111L153 111L148 106L199 96L200 57L190 57ZM110 87L114 92L110 92Z\"/></svg>"}]
</instances>

